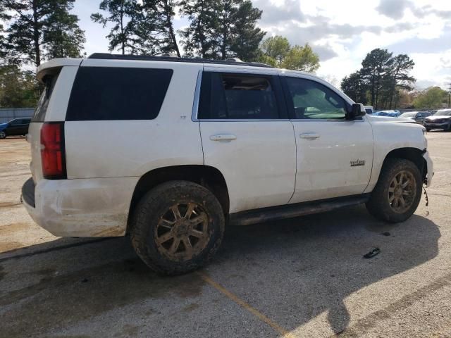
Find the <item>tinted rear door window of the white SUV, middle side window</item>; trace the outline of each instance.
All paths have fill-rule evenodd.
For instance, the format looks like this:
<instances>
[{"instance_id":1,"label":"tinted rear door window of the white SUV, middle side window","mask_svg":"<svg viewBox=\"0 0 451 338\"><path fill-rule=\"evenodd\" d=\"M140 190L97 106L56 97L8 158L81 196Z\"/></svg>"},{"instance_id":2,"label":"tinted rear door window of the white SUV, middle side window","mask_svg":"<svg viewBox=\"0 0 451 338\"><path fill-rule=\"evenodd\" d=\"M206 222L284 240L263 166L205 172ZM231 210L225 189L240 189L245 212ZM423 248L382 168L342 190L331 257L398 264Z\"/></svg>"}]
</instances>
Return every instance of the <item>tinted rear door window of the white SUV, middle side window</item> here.
<instances>
[{"instance_id":1,"label":"tinted rear door window of the white SUV, middle side window","mask_svg":"<svg viewBox=\"0 0 451 338\"><path fill-rule=\"evenodd\" d=\"M277 119L280 117L273 77L204 73L201 119Z\"/></svg>"}]
</instances>

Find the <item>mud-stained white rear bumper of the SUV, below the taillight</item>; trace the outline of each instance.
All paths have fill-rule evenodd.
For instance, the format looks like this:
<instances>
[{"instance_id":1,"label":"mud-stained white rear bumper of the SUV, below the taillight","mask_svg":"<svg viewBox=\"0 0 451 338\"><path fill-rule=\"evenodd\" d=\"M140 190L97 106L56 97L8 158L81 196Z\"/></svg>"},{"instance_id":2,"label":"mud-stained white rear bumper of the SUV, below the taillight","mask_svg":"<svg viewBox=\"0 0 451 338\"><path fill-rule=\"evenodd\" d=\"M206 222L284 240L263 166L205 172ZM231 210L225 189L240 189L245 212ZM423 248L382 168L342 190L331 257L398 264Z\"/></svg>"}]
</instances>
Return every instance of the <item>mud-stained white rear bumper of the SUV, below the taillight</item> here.
<instances>
[{"instance_id":1,"label":"mud-stained white rear bumper of the SUV, below the taillight","mask_svg":"<svg viewBox=\"0 0 451 338\"><path fill-rule=\"evenodd\" d=\"M138 178L39 180L36 185L30 179L23 184L23 205L55 236L123 236Z\"/></svg>"}]
</instances>

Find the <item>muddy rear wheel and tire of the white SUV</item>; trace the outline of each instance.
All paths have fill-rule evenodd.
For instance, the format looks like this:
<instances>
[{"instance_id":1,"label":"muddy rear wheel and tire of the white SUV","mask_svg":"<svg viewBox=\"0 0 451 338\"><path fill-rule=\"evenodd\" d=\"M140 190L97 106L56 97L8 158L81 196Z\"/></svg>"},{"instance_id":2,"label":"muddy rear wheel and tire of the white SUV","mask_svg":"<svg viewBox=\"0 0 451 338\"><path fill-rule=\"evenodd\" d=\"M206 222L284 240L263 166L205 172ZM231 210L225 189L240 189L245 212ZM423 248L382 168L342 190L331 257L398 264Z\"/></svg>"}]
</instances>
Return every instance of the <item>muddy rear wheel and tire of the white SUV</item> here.
<instances>
[{"instance_id":1,"label":"muddy rear wheel and tire of the white SUV","mask_svg":"<svg viewBox=\"0 0 451 338\"><path fill-rule=\"evenodd\" d=\"M130 237L156 273L180 275L205 265L224 234L224 213L209 189L187 181L160 184L142 197Z\"/></svg>"}]
</instances>

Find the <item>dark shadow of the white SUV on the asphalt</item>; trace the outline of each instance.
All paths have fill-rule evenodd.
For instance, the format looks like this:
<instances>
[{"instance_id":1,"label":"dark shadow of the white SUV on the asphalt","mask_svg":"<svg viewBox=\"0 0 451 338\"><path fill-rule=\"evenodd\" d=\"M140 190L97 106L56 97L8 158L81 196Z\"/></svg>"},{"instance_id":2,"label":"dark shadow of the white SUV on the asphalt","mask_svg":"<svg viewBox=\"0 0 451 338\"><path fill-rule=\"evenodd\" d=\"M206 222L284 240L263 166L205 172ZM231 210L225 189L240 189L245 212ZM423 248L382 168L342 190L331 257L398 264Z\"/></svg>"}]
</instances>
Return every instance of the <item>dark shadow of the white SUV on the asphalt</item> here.
<instances>
[{"instance_id":1,"label":"dark shadow of the white SUV on the asphalt","mask_svg":"<svg viewBox=\"0 0 451 338\"><path fill-rule=\"evenodd\" d=\"M333 331L342 333L350 322L347 296L430 261L438 254L439 238L438 226L419 215L400 225L385 225L357 206L230 227L203 273L287 330L328 311ZM378 256L362 258L375 246L381 248ZM0 254L0 337L48 337L52 332L88 337L144 337L150 332L167 337L171 328L159 323L168 316L184 327L173 337L199 337L211 334L212 321L233 327L221 306L205 305L218 298L230 301L220 292L213 294L197 273L155 275L137 258L127 237L57 239ZM187 309L187 303L205 306ZM137 320L143 308L145 323ZM106 313L108 320L99 331L85 325L105 320L99 318ZM135 334L124 331L129 329L123 323L135 325ZM246 323L251 327L247 330L261 325L258 320ZM249 337L261 332L236 330L230 332Z\"/></svg>"}]
</instances>

